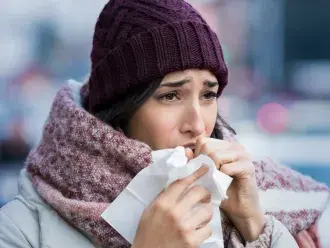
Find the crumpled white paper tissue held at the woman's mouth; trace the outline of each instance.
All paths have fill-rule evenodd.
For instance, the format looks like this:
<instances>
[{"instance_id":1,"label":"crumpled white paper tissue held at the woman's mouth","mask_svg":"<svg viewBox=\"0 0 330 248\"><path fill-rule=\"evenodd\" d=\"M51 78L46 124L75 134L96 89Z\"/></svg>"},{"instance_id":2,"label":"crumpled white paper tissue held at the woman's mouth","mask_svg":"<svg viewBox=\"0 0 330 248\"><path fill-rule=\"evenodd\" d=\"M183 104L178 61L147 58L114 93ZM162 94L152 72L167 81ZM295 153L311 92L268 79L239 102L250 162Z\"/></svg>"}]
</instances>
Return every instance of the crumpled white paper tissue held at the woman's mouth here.
<instances>
[{"instance_id":1,"label":"crumpled white paper tissue held at the woman's mouth","mask_svg":"<svg viewBox=\"0 0 330 248\"><path fill-rule=\"evenodd\" d=\"M232 178L218 171L211 158L200 155L187 163L184 147L152 152L153 163L138 173L120 195L102 213L118 233L132 244L143 210L172 182L191 175L203 164L209 167L206 175L194 185L201 185L211 193L213 234L200 246L223 248L223 235L219 206L227 199L226 191Z\"/></svg>"}]
</instances>

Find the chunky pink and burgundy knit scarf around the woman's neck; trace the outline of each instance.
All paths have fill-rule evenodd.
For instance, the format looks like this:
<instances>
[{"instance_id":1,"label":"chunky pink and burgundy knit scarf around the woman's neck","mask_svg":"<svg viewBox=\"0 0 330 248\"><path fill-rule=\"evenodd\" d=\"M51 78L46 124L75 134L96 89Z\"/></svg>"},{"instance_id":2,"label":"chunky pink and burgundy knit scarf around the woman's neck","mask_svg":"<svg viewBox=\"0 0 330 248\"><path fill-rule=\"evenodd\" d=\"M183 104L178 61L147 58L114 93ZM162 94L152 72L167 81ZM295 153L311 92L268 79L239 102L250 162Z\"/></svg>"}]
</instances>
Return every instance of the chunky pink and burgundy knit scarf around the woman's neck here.
<instances>
[{"instance_id":1,"label":"chunky pink and burgundy knit scarf around the woman's neck","mask_svg":"<svg viewBox=\"0 0 330 248\"><path fill-rule=\"evenodd\" d=\"M151 149L86 112L80 88L71 81L58 92L27 170L40 196L92 242L129 247L100 215L152 162ZM265 212L293 235L315 223L326 204L325 185L271 161L256 161L255 169ZM232 228L223 220L225 243Z\"/></svg>"}]
</instances>

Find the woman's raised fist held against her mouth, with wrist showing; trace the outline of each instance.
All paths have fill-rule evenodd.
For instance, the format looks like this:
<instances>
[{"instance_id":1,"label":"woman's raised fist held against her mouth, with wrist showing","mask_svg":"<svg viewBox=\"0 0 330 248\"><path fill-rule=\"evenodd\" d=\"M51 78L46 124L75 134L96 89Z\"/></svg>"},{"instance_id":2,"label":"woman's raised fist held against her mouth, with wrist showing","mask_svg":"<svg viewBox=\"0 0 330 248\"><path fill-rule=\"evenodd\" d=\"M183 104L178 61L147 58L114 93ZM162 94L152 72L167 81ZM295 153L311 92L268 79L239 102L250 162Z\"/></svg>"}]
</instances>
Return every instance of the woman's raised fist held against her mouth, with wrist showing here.
<instances>
[{"instance_id":1,"label":"woman's raised fist held against her mouth, with wrist showing","mask_svg":"<svg viewBox=\"0 0 330 248\"><path fill-rule=\"evenodd\" d=\"M246 241L256 240L263 231L265 219L259 204L254 165L244 147L238 143L200 137L194 156L209 156L217 169L233 177L228 199L221 209L228 215Z\"/></svg>"}]
</instances>

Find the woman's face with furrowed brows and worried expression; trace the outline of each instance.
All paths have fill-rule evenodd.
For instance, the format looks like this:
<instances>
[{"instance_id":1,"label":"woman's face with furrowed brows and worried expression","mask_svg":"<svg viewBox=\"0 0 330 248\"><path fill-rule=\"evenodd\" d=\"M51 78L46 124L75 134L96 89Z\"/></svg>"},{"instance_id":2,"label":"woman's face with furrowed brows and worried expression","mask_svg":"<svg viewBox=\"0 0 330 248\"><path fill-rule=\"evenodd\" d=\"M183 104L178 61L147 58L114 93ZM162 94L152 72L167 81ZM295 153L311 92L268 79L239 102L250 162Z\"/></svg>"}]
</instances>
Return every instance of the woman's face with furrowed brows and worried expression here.
<instances>
[{"instance_id":1,"label":"woman's face with furrowed brows and worried expression","mask_svg":"<svg viewBox=\"0 0 330 248\"><path fill-rule=\"evenodd\" d=\"M153 150L179 145L194 149L197 137L209 137L214 129L218 87L216 77L208 70L167 74L131 118L129 136Z\"/></svg>"}]
</instances>

